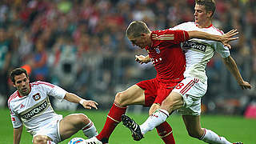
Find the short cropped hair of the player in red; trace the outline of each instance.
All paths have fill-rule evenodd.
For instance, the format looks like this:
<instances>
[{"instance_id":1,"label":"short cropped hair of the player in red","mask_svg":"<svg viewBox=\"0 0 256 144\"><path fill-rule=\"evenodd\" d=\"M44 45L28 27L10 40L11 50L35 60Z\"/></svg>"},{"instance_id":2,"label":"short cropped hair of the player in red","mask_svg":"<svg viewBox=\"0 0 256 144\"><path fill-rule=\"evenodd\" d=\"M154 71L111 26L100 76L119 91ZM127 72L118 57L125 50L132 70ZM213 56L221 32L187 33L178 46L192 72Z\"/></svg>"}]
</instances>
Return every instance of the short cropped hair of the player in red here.
<instances>
[{"instance_id":1,"label":"short cropped hair of the player in red","mask_svg":"<svg viewBox=\"0 0 256 144\"><path fill-rule=\"evenodd\" d=\"M126 29L126 37L138 38L142 33L150 33L150 29L146 26L146 23L142 21L130 22L130 25Z\"/></svg>"}]
</instances>

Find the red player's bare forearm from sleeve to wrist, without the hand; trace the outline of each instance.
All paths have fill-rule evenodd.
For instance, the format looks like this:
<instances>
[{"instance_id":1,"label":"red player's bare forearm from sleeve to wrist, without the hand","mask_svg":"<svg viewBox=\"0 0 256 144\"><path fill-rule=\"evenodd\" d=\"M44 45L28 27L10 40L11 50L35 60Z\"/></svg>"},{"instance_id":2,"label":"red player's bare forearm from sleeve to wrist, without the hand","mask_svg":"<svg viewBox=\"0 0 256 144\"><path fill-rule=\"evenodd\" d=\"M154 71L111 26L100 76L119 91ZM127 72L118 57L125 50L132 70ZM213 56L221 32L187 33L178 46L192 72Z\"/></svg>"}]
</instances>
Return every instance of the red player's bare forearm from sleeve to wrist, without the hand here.
<instances>
[{"instance_id":1,"label":"red player's bare forearm from sleeve to wrist, without the hand","mask_svg":"<svg viewBox=\"0 0 256 144\"><path fill-rule=\"evenodd\" d=\"M212 41L218 41L221 42L221 36L219 35L214 35L214 34L208 34L202 31L188 31L188 34L190 35L191 38L200 38L200 39L208 39Z\"/></svg>"}]
</instances>

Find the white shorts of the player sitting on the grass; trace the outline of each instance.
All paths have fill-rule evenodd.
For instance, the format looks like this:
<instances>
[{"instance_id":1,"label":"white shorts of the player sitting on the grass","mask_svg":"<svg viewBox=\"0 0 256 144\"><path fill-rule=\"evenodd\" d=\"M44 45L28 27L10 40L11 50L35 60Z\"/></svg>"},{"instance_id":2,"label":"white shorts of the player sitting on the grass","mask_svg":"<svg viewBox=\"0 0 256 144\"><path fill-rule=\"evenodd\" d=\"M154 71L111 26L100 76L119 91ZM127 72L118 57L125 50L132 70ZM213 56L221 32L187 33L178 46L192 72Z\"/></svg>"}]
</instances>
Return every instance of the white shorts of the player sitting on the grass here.
<instances>
[{"instance_id":1,"label":"white shorts of the player sitting on the grass","mask_svg":"<svg viewBox=\"0 0 256 144\"><path fill-rule=\"evenodd\" d=\"M59 134L59 122L61 120L62 115L58 114L58 116L54 118L54 121L42 126L40 130L36 131L36 134L34 134L33 137L37 135L46 135L55 143L61 142L61 135Z\"/></svg>"}]
</instances>

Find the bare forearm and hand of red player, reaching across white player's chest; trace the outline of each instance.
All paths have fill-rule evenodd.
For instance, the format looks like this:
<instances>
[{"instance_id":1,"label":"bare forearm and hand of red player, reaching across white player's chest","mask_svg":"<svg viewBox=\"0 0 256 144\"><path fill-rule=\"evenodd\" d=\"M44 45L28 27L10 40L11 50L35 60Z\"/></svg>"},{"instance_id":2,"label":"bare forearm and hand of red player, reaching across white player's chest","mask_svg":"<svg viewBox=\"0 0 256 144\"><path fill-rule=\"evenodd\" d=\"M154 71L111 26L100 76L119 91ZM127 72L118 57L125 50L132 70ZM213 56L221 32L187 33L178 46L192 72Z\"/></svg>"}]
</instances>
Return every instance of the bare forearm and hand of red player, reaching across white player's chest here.
<instances>
[{"instance_id":1,"label":"bare forearm and hand of red player, reaching across white player's chest","mask_svg":"<svg viewBox=\"0 0 256 144\"><path fill-rule=\"evenodd\" d=\"M224 46L228 46L229 48L231 48L231 46L228 42L238 39L238 37L233 38L236 34L238 34L238 30L230 30L226 34L222 34L222 35L208 34L208 33L197 31L197 30L187 31L187 32L190 38L200 38L200 39L208 39L212 41L222 42Z\"/></svg>"}]
</instances>

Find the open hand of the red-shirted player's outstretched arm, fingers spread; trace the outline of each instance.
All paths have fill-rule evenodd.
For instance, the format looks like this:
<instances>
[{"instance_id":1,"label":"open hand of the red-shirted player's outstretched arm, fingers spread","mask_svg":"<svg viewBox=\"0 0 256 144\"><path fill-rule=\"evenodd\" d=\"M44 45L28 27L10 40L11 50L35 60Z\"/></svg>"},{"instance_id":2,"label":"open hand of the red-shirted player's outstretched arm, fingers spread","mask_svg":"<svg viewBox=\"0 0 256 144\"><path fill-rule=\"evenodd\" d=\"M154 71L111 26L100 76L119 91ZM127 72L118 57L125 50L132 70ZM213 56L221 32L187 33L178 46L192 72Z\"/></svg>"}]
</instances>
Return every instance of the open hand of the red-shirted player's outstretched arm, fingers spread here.
<instances>
[{"instance_id":1,"label":"open hand of the red-shirted player's outstretched arm, fingers spread","mask_svg":"<svg viewBox=\"0 0 256 144\"><path fill-rule=\"evenodd\" d=\"M238 34L238 30L230 30L226 34L222 34L222 36L221 36L222 44L224 46L227 46L229 49L231 49L231 46L230 46L229 42L238 39L238 37L234 37L237 34Z\"/></svg>"}]
</instances>

